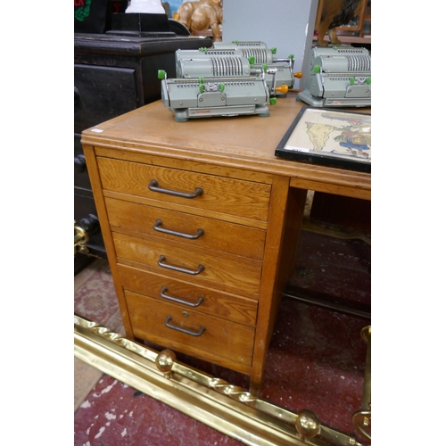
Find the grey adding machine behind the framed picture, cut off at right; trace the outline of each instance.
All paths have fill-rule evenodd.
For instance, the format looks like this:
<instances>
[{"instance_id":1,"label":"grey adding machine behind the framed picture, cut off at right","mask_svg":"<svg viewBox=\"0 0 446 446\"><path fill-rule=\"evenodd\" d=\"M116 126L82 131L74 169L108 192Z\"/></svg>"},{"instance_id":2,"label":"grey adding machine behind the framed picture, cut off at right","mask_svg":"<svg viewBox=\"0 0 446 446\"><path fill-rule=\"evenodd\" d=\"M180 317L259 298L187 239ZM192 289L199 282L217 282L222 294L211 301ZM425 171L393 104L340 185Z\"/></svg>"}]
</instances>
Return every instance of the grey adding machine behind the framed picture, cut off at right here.
<instances>
[{"instance_id":1,"label":"grey adding machine behind the framed picture, cut off at right","mask_svg":"<svg viewBox=\"0 0 446 446\"><path fill-rule=\"evenodd\" d=\"M312 48L305 89L297 100L313 107L367 107L371 96L371 57L366 48Z\"/></svg>"}]
</instances>

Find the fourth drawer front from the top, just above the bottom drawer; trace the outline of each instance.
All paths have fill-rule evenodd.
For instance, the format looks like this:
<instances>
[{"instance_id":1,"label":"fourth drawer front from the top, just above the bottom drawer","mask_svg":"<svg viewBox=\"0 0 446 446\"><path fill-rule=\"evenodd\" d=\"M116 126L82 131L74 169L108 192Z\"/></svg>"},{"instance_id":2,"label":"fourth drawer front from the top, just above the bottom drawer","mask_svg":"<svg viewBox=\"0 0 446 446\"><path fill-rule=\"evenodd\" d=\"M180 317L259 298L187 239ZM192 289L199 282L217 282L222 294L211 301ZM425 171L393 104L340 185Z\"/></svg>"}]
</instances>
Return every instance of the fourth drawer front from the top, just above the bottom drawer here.
<instances>
[{"instance_id":1,"label":"fourth drawer front from the top, just above the bottom drawer","mask_svg":"<svg viewBox=\"0 0 446 446\"><path fill-rule=\"evenodd\" d=\"M257 301L219 293L125 265L119 264L118 271L125 290L145 294L159 301L175 302L178 309L192 309L245 326L255 326Z\"/></svg>"}]
</instances>

